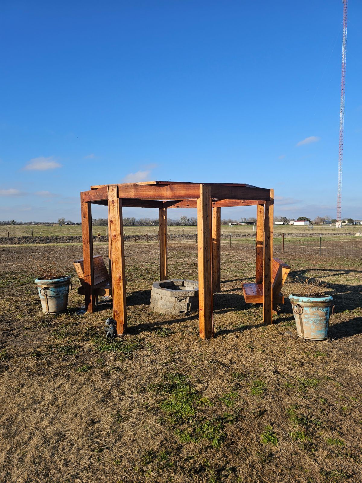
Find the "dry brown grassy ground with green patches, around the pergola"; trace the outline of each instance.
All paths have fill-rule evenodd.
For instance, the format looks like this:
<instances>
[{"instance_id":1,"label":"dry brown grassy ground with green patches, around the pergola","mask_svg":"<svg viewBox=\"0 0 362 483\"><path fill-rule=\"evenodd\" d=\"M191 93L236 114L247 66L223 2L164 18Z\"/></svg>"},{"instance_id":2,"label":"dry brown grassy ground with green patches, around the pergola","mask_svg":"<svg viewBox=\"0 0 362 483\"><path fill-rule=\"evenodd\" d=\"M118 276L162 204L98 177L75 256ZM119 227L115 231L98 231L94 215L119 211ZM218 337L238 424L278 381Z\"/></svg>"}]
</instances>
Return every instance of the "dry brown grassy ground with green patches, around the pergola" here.
<instances>
[{"instance_id":1,"label":"dry brown grassy ground with green patches, around the pergola","mask_svg":"<svg viewBox=\"0 0 362 483\"><path fill-rule=\"evenodd\" d=\"M42 313L34 284L50 252L72 274L59 316ZM74 288L80 245L0 247L0 481L361 482L361 260L285 254L285 295L298 275L334 296L328 341L308 342L289 302L263 326L241 292L254 254L223 245L215 338L201 341L197 315L148 309L157 244L125 255L129 333L107 341L111 304L84 314ZM196 256L170 244L169 277L197 279Z\"/></svg>"}]
</instances>

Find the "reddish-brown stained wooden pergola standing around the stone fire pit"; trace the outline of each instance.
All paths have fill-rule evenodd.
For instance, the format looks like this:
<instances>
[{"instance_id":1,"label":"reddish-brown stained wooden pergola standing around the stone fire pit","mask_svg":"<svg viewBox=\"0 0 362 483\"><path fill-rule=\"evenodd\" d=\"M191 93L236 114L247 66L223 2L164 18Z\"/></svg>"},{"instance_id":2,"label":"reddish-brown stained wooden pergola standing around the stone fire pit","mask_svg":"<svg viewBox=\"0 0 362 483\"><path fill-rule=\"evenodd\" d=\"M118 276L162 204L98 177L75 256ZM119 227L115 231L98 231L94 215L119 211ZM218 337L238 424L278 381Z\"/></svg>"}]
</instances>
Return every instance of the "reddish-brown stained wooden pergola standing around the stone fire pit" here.
<instances>
[{"instance_id":1,"label":"reddish-brown stained wooden pergola standing around the stone fire pit","mask_svg":"<svg viewBox=\"0 0 362 483\"><path fill-rule=\"evenodd\" d=\"M96 310L94 293L92 203L108 206L109 270L112 281L113 318L117 335L127 329L125 253L122 207L158 208L160 280L167 280L167 209L197 208L199 328L202 339L213 337L212 294L220 292L221 208L257 207L256 274L264 285L263 319L272 323L274 190L236 183L181 183L150 181L91 186L81 192L85 308Z\"/></svg>"}]
</instances>

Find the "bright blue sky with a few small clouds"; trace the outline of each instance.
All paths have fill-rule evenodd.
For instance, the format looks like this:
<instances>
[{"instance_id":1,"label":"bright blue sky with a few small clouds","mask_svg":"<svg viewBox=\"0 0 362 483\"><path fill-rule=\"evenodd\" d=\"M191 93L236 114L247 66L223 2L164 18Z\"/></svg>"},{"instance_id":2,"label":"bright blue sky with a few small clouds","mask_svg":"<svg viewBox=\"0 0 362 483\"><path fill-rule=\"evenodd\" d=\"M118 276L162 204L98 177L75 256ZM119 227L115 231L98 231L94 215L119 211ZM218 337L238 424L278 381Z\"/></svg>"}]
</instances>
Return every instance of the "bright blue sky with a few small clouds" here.
<instances>
[{"instance_id":1,"label":"bright blue sky with a few small clouds","mask_svg":"<svg viewBox=\"0 0 362 483\"><path fill-rule=\"evenodd\" d=\"M277 215L334 218L342 9L3 0L0 219L80 221L90 185L155 179L272 187ZM361 219L360 1L348 18L342 215Z\"/></svg>"}]
</instances>

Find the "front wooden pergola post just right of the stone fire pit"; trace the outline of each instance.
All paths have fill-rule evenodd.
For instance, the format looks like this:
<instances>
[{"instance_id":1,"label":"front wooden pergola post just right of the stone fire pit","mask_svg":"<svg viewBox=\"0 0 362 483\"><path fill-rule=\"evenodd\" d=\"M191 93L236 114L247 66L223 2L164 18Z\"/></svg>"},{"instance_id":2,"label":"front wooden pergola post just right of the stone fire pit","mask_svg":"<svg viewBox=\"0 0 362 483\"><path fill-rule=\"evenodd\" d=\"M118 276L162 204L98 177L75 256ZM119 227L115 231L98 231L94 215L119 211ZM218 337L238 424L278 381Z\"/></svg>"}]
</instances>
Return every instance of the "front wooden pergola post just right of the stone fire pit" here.
<instances>
[{"instance_id":1,"label":"front wooden pergola post just right of the stone fire pit","mask_svg":"<svg viewBox=\"0 0 362 483\"><path fill-rule=\"evenodd\" d=\"M214 336L211 274L211 188L200 185L197 199L198 305L202 339Z\"/></svg>"}]
</instances>

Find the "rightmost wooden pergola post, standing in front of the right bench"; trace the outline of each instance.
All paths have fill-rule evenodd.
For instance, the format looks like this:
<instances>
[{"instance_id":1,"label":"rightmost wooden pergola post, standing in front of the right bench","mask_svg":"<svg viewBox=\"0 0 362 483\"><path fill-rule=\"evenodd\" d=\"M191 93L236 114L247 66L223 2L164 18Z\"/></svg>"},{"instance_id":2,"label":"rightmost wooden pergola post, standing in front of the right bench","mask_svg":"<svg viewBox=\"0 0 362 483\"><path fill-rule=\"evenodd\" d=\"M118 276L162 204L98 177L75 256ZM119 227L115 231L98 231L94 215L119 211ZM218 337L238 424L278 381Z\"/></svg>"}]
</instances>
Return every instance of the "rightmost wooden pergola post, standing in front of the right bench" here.
<instances>
[{"instance_id":1,"label":"rightmost wooden pergola post, standing in front of the right bench","mask_svg":"<svg viewBox=\"0 0 362 483\"><path fill-rule=\"evenodd\" d=\"M270 201L265 201L264 216L264 302L265 324L273 323L273 217L274 189L270 190Z\"/></svg>"}]
</instances>

